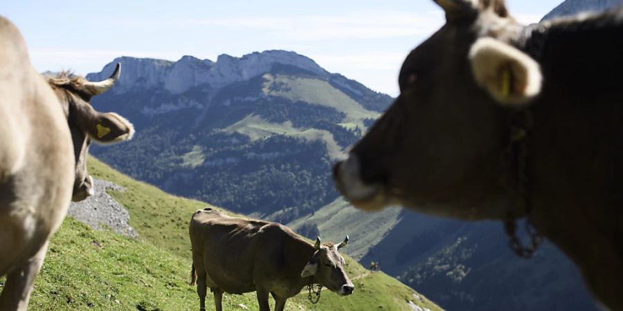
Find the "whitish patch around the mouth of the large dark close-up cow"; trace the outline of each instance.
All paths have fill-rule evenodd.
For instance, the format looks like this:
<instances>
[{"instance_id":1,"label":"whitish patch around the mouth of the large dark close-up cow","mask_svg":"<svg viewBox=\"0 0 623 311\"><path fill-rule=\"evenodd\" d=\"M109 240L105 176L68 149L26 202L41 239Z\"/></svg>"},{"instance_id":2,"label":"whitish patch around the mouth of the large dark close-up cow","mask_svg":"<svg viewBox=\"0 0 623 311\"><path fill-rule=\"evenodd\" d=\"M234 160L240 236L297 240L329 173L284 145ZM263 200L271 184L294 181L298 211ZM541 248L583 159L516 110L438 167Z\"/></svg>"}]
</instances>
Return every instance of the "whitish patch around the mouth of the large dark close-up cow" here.
<instances>
[{"instance_id":1,"label":"whitish patch around the mouth of the large dark close-up cow","mask_svg":"<svg viewBox=\"0 0 623 311\"><path fill-rule=\"evenodd\" d=\"M339 166L339 182L341 183L342 191L347 198L351 200L365 200L371 198L377 192L380 187L378 185L366 185L361 180L359 173L361 167L359 165L359 159L353 153L343 161Z\"/></svg>"}]
</instances>

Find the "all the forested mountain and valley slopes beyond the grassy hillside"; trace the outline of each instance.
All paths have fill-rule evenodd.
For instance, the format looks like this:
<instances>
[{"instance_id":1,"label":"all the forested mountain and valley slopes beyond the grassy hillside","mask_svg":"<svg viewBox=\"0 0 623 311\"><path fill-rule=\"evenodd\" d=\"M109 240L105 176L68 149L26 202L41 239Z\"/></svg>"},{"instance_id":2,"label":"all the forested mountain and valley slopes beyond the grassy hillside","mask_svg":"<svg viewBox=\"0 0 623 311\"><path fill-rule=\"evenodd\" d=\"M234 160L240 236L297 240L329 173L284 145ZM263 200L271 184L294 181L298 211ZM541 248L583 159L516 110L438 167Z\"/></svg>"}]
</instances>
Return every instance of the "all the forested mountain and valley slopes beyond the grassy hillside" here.
<instances>
[{"instance_id":1,"label":"all the forested mountain and valley slopes beyond the grassy hillside","mask_svg":"<svg viewBox=\"0 0 623 311\"><path fill-rule=\"evenodd\" d=\"M128 117L137 134L93 153L121 171L310 238L350 234L347 254L364 265L381 261L383 271L444 308L596 309L575 266L552 245L521 261L497 223L400 209L368 214L338 198L331 164L388 106L387 95L284 51L217 62L116 61L123 63L120 84L94 102ZM107 77L112 64L89 78Z\"/></svg>"}]
</instances>

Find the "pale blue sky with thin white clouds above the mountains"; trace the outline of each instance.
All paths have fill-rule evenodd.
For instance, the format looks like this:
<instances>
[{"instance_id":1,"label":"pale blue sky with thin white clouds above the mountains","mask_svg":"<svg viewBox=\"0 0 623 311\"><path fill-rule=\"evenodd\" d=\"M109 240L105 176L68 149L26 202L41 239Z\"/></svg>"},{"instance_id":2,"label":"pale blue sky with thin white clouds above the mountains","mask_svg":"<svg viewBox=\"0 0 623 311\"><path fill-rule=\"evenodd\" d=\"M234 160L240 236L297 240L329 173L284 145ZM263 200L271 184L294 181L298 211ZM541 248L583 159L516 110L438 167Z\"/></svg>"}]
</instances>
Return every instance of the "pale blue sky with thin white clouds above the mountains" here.
<instances>
[{"instance_id":1,"label":"pale blue sky with thin white clouds above the mountains","mask_svg":"<svg viewBox=\"0 0 623 311\"><path fill-rule=\"evenodd\" d=\"M40 71L87 74L118 56L216 60L293 50L332 73L397 95L406 54L444 23L432 0L6 1ZM538 21L561 0L507 0L519 21Z\"/></svg>"}]
</instances>

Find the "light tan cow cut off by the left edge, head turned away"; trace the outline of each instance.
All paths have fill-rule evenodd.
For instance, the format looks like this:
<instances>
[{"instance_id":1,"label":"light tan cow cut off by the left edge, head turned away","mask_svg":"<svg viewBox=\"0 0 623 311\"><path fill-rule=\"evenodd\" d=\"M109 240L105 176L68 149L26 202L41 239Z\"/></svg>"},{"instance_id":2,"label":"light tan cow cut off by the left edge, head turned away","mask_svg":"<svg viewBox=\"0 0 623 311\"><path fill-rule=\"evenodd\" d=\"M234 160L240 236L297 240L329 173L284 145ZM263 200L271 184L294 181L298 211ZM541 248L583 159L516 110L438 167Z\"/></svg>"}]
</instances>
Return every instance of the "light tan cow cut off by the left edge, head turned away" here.
<instances>
[{"instance_id":1,"label":"light tan cow cut off by the left edge, head turned away","mask_svg":"<svg viewBox=\"0 0 623 311\"><path fill-rule=\"evenodd\" d=\"M92 194L90 140L132 137L132 124L89 104L118 75L119 68L103 82L48 82L30 65L17 28L0 17L0 310L26 310L48 238L70 200Z\"/></svg>"}]
</instances>

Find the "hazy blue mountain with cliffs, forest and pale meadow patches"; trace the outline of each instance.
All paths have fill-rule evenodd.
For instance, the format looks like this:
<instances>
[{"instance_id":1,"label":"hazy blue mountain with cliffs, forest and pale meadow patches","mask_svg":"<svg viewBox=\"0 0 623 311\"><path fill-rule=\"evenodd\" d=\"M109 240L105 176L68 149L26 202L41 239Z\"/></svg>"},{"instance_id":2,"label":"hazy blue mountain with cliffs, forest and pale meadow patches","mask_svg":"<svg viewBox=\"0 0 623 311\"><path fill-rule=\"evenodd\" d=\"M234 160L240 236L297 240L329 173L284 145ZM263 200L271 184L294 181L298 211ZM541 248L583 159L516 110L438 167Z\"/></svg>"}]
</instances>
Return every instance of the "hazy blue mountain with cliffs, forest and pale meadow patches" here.
<instances>
[{"instance_id":1,"label":"hazy blue mountain with cliffs, forest and pale meadow patches","mask_svg":"<svg viewBox=\"0 0 623 311\"><path fill-rule=\"evenodd\" d=\"M336 198L332 161L391 100L284 51L115 62L119 85L94 105L128 117L137 134L94 154L161 189L244 214L288 209L285 221Z\"/></svg>"}]
</instances>

